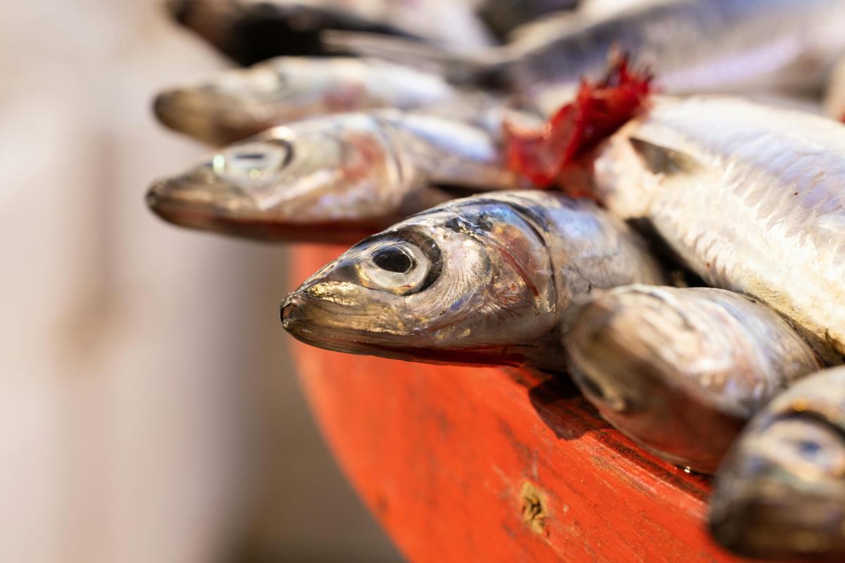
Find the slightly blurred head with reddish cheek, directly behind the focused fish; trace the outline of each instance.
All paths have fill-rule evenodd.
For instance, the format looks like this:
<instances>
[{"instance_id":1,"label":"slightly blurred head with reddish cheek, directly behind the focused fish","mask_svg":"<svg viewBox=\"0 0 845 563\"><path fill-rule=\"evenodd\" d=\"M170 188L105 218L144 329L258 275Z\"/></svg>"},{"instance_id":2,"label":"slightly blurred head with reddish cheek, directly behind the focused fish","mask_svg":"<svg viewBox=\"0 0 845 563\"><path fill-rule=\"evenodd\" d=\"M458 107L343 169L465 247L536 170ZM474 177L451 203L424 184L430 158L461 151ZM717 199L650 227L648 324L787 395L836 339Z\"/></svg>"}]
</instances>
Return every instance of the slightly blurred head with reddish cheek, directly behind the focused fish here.
<instances>
[{"instance_id":1,"label":"slightly blurred head with reddish cheek, directly behind the focused fish","mask_svg":"<svg viewBox=\"0 0 845 563\"><path fill-rule=\"evenodd\" d=\"M368 116L338 117L274 127L221 149L155 182L147 203L177 225L269 237L394 213L419 186Z\"/></svg>"}]
</instances>

